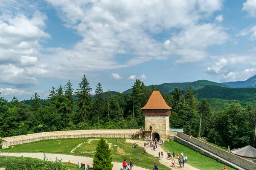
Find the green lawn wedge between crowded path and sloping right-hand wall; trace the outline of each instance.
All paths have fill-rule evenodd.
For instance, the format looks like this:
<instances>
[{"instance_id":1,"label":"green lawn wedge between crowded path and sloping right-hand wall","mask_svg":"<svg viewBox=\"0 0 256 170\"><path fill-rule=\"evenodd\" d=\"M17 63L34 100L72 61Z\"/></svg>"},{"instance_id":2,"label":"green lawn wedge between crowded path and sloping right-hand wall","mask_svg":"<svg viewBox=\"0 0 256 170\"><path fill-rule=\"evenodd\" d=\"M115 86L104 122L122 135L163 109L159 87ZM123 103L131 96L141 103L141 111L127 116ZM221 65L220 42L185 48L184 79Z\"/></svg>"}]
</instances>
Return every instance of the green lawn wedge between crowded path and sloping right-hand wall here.
<instances>
[{"instance_id":1,"label":"green lawn wedge between crowded path and sloping right-hand wall","mask_svg":"<svg viewBox=\"0 0 256 170\"><path fill-rule=\"evenodd\" d=\"M182 144L179 144L178 142L175 141L165 142L164 145L162 145L162 147L166 152L174 151L176 153L176 156L177 153L183 152L185 156L188 157L188 164L200 170L222 170L224 166L227 167L227 170L234 170L233 168L228 167L227 165L224 165L218 161L215 161L214 159L204 156L203 154L195 150L192 150L189 147L186 147Z\"/></svg>"}]
</instances>

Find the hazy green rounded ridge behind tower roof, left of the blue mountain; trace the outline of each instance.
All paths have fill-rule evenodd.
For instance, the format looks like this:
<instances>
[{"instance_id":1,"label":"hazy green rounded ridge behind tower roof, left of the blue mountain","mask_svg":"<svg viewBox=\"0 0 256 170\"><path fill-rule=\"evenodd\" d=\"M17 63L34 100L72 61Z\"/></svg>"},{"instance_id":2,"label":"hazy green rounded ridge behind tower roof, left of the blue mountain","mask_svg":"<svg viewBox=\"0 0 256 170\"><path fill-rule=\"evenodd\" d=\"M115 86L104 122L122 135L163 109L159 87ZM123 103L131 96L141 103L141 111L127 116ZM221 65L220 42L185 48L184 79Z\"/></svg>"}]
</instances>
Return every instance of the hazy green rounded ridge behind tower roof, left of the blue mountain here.
<instances>
[{"instance_id":1,"label":"hazy green rounded ridge behind tower roof, left of the blue mountain","mask_svg":"<svg viewBox=\"0 0 256 170\"><path fill-rule=\"evenodd\" d=\"M158 90L162 91L165 94L170 94L175 88L181 88L183 90L189 89L189 86L192 85L195 90L204 88L205 85L214 85L224 88L230 88L228 85L224 85L218 82L211 82L208 80L198 80L195 82L171 82L171 83L163 83L161 85L154 85ZM149 88L152 88L152 85L148 86ZM124 91L122 94L131 93L131 88Z\"/></svg>"}]
</instances>

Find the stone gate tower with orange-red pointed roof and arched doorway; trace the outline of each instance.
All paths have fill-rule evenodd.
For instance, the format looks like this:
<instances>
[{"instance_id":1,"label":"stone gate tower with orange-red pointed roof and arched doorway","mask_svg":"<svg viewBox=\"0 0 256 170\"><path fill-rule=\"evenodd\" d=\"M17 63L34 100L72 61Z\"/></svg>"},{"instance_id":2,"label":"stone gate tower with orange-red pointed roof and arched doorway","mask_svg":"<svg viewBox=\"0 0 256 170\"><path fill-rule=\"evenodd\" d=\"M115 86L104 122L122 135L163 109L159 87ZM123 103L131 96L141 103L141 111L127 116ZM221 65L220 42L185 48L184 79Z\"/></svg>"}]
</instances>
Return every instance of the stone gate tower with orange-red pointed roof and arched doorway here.
<instances>
[{"instance_id":1,"label":"stone gate tower with orange-red pointed roof and arched doorway","mask_svg":"<svg viewBox=\"0 0 256 170\"><path fill-rule=\"evenodd\" d=\"M151 139L167 139L170 130L170 109L159 91L153 91L147 104L141 108L145 115L145 130L151 131Z\"/></svg>"}]
</instances>

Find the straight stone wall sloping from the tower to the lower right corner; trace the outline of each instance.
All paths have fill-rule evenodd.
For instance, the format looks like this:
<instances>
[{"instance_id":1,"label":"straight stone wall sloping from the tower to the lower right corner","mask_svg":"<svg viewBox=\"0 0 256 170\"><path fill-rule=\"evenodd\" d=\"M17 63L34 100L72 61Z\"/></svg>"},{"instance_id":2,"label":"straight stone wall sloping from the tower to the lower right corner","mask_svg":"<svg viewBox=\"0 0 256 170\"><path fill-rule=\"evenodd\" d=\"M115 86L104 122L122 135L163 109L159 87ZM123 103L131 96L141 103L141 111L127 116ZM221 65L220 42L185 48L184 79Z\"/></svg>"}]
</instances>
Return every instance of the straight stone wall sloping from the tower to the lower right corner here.
<instances>
[{"instance_id":1,"label":"straight stone wall sloping from the tower to the lower right corner","mask_svg":"<svg viewBox=\"0 0 256 170\"><path fill-rule=\"evenodd\" d=\"M178 132L177 136L180 137L181 139L184 139L185 141L188 141L188 142L191 142L192 144L195 144L196 146L198 146L198 147L200 147L204 150L209 151L210 153L213 153L214 155L216 155L216 156L218 156L218 157L220 157L224 160L227 160L227 161L231 162L232 164L237 165L238 167L241 167L245 170L256 170L256 164L255 163L253 163L251 161L248 161L246 159L243 159L239 156L236 156L233 153L230 153L230 152L227 152L225 150L219 149L218 147L212 146L211 144L207 144L205 142L202 142L198 139L195 139L195 138L190 137L190 136L188 136L186 134L183 134L183 133ZM200 153L203 152L204 155L207 155L207 156L209 156L213 159L216 159L215 156L212 156L211 154L207 154L206 152L204 152L202 150L198 150L198 148L196 148L196 147L194 147L194 146L192 146L188 143L184 143L184 141L179 140L178 138L175 138L174 140L181 143L181 144L184 144L188 147L191 147L192 149L197 150ZM218 159L218 161L220 161L220 160ZM223 163L225 163L225 162L223 162Z\"/></svg>"}]
</instances>

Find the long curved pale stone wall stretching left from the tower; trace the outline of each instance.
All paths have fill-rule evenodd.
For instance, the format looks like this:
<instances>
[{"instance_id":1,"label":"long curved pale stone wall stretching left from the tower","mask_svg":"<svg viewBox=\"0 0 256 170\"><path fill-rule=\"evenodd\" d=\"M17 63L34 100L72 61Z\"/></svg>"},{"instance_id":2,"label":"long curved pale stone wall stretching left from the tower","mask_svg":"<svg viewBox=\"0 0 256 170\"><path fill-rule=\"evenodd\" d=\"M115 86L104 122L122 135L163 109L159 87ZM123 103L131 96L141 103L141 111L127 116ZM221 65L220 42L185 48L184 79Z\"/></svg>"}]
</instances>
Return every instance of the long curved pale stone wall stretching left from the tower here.
<instances>
[{"instance_id":1,"label":"long curved pale stone wall stretching left from the tower","mask_svg":"<svg viewBox=\"0 0 256 170\"><path fill-rule=\"evenodd\" d=\"M33 133L29 135L11 136L3 138L2 149L12 145L36 142L47 139L64 139L64 138L131 138L131 133L137 133L138 129L97 129L97 130L69 130Z\"/></svg>"}]
</instances>

